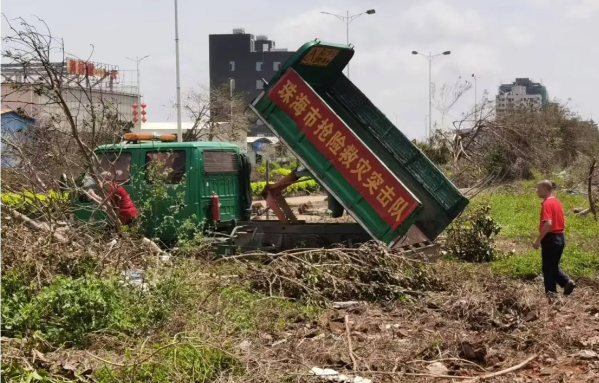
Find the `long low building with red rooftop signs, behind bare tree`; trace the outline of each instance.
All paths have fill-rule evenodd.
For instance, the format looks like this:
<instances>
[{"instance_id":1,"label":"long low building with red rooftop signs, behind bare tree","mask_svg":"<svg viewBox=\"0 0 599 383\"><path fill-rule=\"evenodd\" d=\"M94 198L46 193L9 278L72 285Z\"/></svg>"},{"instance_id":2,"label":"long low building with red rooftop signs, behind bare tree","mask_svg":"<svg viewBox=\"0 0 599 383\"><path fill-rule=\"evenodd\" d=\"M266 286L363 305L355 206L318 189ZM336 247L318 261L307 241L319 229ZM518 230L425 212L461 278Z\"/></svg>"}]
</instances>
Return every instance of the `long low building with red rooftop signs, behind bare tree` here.
<instances>
[{"instance_id":1,"label":"long low building with red rooftop signs, behind bare tree","mask_svg":"<svg viewBox=\"0 0 599 383\"><path fill-rule=\"evenodd\" d=\"M128 81L129 71L114 65L66 59L50 69L29 65L2 64L1 105L31 117L37 123L68 126L63 107L52 94L53 82L61 82L62 99L80 128L106 113L131 120L131 105L138 100L138 88ZM130 74L129 74L130 75ZM52 77L52 81L46 79Z\"/></svg>"}]
</instances>

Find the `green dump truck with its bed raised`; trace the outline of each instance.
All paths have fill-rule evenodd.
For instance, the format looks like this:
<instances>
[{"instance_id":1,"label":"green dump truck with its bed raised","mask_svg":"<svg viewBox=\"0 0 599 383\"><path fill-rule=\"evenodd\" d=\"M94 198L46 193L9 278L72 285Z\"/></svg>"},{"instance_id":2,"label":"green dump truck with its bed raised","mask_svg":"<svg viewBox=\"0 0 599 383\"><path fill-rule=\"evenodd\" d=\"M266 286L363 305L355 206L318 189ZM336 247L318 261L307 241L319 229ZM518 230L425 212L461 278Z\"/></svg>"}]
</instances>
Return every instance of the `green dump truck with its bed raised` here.
<instances>
[{"instance_id":1,"label":"green dump truck with its bed raised","mask_svg":"<svg viewBox=\"0 0 599 383\"><path fill-rule=\"evenodd\" d=\"M228 251L351 246L371 239L427 251L468 200L344 76L353 54L351 46L306 43L249 105L302 164L263 192L276 221L251 219L251 168L234 144L125 141L96 153L107 165L122 168L117 181L134 201L148 190L144 174L152 161L171 167L168 195L182 202L173 213L172 203L165 201L148 220L154 222L150 226L170 225L159 234L164 241L174 239L181 222L192 218L198 225L216 226L223 239L219 246ZM326 189L337 215L345 210L356 223L297 219L283 191L304 176ZM78 218L89 219L93 204L83 197L77 206Z\"/></svg>"}]
</instances>

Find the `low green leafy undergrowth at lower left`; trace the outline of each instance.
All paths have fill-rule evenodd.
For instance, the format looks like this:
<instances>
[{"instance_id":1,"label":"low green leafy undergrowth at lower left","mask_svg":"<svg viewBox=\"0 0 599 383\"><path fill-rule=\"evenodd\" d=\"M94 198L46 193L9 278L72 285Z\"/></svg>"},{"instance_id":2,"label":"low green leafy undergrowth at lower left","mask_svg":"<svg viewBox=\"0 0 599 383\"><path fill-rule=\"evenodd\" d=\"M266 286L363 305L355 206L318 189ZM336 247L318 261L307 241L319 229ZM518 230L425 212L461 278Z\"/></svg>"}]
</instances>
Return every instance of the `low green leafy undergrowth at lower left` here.
<instances>
[{"instance_id":1,"label":"low green leafy undergrowth at lower left","mask_svg":"<svg viewBox=\"0 0 599 383\"><path fill-rule=\"evenodd\" d=\"M83 345L99 330L134 334L165 318L172 309L176 284L165 279L147 291L116 278L56 276L36 287L14 273L2 276L2 335L31 336L39 331L50 343Z\"/></svg>"}]
</instances>

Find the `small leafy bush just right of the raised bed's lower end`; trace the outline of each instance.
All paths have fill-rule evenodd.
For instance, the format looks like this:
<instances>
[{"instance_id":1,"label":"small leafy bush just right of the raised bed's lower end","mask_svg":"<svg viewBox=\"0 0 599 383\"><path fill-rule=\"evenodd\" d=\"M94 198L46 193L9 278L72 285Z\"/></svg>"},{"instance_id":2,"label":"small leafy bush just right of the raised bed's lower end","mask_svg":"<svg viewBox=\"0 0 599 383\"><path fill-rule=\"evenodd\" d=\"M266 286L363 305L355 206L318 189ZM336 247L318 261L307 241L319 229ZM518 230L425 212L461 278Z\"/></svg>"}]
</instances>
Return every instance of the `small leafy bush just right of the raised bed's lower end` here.
<instances>
[{"instance_id":1,"label":"small leafy bush just right of the raised bed's lower end","mask_svg":"<svg viewBox=\"0 0 599 383\"><path fill-rule=\"evenodd\" d=\"M466 262L491 262L497 258L495 237L501 226L491 218L491 206L470 209L447 231L449 256Z\"/></svg>"}]
</instances>

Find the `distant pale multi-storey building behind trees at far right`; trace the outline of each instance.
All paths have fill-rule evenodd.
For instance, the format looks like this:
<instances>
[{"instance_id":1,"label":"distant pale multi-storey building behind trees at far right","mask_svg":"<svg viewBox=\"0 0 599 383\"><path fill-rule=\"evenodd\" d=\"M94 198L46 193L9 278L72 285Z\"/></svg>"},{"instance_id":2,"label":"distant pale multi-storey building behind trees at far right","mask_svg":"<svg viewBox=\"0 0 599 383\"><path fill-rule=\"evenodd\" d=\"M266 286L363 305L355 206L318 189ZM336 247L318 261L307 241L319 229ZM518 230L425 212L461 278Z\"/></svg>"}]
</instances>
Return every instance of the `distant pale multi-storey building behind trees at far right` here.
<instances>
[{"instance_id":1,"label":"distant pale multi-storey building behind trees at far right","mask_svg":"<svg viewBox=\"0 0 599 383\"><path fill-rule=\"evenodd\" d=\"M541 83L532 82L528 78L517 78L511 84L499 86L495 96L497 114L518 107L538 108L547 105L547 89Z\"/></svg>"}]
</instances>

